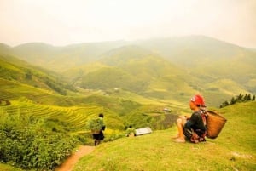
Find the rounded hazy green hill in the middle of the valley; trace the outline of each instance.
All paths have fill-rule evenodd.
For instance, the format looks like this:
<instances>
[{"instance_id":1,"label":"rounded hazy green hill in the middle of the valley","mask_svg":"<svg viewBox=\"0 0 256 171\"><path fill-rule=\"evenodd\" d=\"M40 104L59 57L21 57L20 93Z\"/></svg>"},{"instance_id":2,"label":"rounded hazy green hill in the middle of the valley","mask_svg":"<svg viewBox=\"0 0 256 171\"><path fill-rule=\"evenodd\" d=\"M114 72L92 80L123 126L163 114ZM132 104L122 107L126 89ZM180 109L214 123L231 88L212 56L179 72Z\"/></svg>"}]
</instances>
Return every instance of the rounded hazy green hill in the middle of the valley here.
<instances>
[{"instance_id":1,"label":"rounded hazy green hill in the middle of the valley","mask_svg":"<svg viewBox=\"0 0 256 171\"><path fill-rule=\"evenodd\" d=\"M96 67L90 70L90 66ZM160 100L172 100L174 96L177 100L187 100L191 90L196 92L193 88L195 77L148 49L137 46L114 49L90 66L84 66L89 69L87 71L76 70L78 77L73 78L74 84L92 89L123 88Z\"/></svg>"}]
</instances>

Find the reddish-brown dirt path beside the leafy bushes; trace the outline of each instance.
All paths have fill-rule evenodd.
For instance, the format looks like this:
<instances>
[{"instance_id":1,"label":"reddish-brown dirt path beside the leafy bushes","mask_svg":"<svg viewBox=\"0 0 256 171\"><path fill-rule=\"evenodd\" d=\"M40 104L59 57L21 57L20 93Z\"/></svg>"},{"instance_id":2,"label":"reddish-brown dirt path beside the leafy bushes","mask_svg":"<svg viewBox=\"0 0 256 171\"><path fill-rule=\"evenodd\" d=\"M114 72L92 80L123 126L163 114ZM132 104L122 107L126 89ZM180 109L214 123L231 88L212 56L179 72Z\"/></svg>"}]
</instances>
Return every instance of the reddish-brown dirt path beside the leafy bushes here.
<instances>
[{"instance_id":1,"label":"reddish-brown dirt path beside the leafy bushes","mask_svg":"<svg viewBox=\"0 0 256 171\"><path fill-rule=\"evenodd\" d=\"M79 158L84 157L84 155L89 154L94 150L94 146L80 146L71 157L67 158L67 161L61 164L61 167L56 168L56 171L72 171L72 168L76 162L79 161Z\"/></svg>"}]
</instances>

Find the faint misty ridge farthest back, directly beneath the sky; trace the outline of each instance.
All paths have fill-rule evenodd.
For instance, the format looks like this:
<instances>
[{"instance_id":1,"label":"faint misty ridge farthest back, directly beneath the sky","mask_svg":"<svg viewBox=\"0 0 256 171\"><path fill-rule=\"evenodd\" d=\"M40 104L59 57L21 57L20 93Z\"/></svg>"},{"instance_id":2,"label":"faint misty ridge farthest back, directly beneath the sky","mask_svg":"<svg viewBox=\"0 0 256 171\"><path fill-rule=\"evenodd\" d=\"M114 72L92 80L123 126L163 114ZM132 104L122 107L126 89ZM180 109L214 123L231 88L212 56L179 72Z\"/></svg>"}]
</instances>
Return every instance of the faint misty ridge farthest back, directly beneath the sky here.
<instances>
[{"instance_id":1,"label":"faint misty ridge farthest back, directly beneath the sky","mask_svg":"<svg viewBox=\"0 0 256 171\"><path fill-rule=\"evenodd\" d=\"M55 71L65 71L101 58L114 48L131 45L147 48L168 60L183 66L194 66L195 60L232 58L243 52L255 53L254 48L243 48L216 38L205 36L165 37L139 41L113 41L100 43L76 43L53 46L47 43L24 43L13 48L5 45L5 51L15 54L33 65ZM3 43L0 48L3 48ZM11 52L10 52L11 50Z\"/></svg>"}]
</instances>

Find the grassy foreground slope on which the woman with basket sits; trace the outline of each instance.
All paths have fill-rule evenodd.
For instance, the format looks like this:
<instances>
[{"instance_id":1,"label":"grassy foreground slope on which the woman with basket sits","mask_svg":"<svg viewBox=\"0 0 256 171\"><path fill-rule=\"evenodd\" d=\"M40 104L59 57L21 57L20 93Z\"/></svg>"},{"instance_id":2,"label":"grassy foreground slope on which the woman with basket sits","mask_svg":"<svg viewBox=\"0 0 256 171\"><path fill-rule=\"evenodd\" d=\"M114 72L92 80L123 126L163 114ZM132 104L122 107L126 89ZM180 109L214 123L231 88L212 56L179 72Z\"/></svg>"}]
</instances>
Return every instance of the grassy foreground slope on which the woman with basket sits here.
<instances>
[{"instance_id":1,"label":"grassy foreground slope on which the woman with basket sits","mask_svg":"<svg viewBox=\"0 0 256 171\"><path fill-rule=\"evenodd\" d=\"M215 140L177 144L171 140L177 131L172 127L103 143L73 170L255 170L256 102L230 105L219 112L228 122Z\"/></svg>"}]
</instances>

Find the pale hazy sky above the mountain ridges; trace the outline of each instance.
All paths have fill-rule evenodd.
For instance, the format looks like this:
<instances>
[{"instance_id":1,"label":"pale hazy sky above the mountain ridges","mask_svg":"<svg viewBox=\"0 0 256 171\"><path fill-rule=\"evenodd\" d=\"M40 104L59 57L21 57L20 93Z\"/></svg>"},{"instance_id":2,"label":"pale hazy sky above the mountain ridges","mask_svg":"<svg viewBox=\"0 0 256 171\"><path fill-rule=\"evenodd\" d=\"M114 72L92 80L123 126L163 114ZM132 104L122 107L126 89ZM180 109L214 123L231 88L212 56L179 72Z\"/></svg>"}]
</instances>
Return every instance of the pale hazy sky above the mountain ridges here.
<instances>
[{"instance_id":1,"label":"pale hazy sky above the mountain ridges","mask_svg":"<svg viewBox=\"0 0 256 171\"><path fill-rule=\"evenodd\" d=\"M205 35L256 48L256 0L0 0L0 42Z\"/></svg>"}]
</instances>

